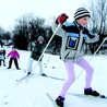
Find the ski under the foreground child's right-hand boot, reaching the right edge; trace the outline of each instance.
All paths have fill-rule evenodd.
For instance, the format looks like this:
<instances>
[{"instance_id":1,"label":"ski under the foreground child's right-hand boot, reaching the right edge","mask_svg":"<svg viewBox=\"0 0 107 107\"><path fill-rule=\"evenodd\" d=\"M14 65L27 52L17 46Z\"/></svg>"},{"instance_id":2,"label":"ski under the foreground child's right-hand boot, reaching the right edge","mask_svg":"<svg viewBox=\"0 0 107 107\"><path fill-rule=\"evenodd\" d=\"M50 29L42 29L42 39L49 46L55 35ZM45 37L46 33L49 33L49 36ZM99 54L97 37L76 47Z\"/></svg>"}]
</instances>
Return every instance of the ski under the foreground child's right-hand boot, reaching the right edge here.
<instances>
[{"instance_id":1,"label":"ski under the foreground child's right-hand boot, reaching the right edge","mask_svg":"<svg viewBox=\"0 0 107 107\"><path fill-rule=\"evenodd\" d=\"M107 96L103 95L103 94L99 94L99 96L92 96L92 95L84 95L84 94L74 94L74 93L68 93L70 95L73 95L73 96L78 96L78 97L94 97L94 98L103 98L103 99L107 99Z\"/></svg>"}]
</instances>

